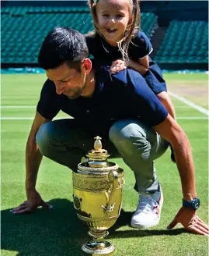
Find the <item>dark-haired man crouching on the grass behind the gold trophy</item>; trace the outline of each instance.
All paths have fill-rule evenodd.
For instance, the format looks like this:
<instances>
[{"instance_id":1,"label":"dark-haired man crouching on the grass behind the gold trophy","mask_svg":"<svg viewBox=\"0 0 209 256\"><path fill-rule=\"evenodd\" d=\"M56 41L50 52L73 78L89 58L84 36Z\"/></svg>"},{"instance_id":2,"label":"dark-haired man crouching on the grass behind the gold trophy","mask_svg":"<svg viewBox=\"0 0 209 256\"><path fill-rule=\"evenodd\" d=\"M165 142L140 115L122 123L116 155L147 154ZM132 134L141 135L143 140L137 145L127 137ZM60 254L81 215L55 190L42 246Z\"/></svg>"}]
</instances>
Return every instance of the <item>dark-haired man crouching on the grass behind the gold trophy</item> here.
<instances>
[{"instance_id":1,"label":"dark-haired man crouching on the grass behind the gold trophy","mask_svg":"<svg viewBox=\"0 0 209 256\"><path fill-rule=\"evenodd\" d=\"M207 224L196 215L200 201L185 133L139 73L125 69L110 75L110 66L92 67L87 56L85 38L76 30L56 28L44 39L38 60L48 80L26 145L27 201L13 212L32 212L38 206L50 208L36 190L42 155L76 169L81 157L92 148L93 137L99 135L103 148L110 154L119 152L134 171L139 203L131 226L155 226L163 195L153 161L170 143L181 178L183 207L168 228L181 222L186 229L207 236ZM51 122L60 110L74 119Z\"/></svg>"}]
</instances>

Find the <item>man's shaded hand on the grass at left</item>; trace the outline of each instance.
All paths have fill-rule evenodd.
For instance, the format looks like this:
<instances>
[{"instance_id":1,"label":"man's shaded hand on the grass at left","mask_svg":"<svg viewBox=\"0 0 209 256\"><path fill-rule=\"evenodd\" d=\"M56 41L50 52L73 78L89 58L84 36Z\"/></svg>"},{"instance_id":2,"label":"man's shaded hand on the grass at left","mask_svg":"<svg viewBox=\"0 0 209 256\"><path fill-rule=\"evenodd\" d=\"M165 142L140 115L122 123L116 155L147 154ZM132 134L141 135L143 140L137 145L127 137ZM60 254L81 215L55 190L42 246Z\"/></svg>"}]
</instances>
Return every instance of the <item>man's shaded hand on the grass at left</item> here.
<instances>
[{"instance_id":1,"label":"man's shaded hand on the grass at left","mask_svg":"<svg viewBox=\"0 0 209 256\"><path fill-rule=\"evenodd\" d=\"M18 207L13 208L10 212L15 214L24 214L36 211L39 206L43 208L51 209L53 206L47 204L37 191L33 192L33 196L30 197L27 201L24 201L23 204L20 204Z\"/></svg>"}]
</instances>

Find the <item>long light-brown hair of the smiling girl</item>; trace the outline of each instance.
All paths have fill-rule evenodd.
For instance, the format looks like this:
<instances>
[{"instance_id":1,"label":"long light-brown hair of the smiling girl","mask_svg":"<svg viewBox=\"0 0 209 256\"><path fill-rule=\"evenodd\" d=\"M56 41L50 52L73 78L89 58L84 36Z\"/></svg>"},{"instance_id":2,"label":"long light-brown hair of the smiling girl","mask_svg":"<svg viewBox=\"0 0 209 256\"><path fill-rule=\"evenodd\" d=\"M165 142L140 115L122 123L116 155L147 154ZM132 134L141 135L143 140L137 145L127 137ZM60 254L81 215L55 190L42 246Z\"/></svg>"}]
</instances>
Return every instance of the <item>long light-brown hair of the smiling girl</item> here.
<instances>
[{"instance_id":1,"label":"long light-brown hair of the smiling girl","mask_svg":"<svg viewBox=\"0 0 209 256\"><path fill-rule=\"evenodd\" d=\"M102 37L103 35L99 31L99 24L96 16L96 4L99 2L99 0L88 0L89 9L92 15L93 24L95 27L95 30L90 32L89 36L95 36L96 34L100 34ZM125 61L129 60L127 50L128 46L131 42L131 38L135 37L138 31L141 27L141 16L140 16L140 8L138 0L127 0L127 2L130 2L131 10L132 10L132 21L130 24L127 25L124 38L122 38L118 42L118 48L120 49L120 52L122 53L123 59Z\"/></svg>"}]
</instances>

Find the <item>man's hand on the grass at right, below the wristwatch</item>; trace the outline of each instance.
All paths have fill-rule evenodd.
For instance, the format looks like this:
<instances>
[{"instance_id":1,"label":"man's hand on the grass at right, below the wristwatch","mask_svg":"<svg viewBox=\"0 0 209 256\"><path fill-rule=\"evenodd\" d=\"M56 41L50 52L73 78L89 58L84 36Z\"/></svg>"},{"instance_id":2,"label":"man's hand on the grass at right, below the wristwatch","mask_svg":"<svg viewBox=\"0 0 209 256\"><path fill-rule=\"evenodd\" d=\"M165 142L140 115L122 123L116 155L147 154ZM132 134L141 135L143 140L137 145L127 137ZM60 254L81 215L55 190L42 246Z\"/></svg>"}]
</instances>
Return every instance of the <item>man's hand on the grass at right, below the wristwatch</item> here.
<instances>
[{"instance_id":1,"label":"man's hand on the grass at right, below the wristwatch","mask_svg":"<svg viewBox=\"0 0 209 256\"><path fill-rule=\"evenodd\" d=\"M182 207L176 214L175 218L170 222L168 229L172 229L177 223L181 223L185 229L190 232L197 233L203 236L209 236L209 229L196 214L196 211L190 208Z\"/></svg>"}]
</instances>

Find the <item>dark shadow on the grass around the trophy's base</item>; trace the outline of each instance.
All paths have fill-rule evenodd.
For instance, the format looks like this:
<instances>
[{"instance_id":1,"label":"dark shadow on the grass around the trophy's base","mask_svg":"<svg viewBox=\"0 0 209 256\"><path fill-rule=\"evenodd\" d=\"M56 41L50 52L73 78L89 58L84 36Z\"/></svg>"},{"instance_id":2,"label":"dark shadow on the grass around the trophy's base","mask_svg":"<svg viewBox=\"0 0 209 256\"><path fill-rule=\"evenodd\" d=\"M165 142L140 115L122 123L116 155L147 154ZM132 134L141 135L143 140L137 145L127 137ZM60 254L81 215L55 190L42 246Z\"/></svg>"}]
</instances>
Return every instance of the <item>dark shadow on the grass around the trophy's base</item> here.
<instances>
[{"instance_id":1,"label":"dark shadow on the grass around the trophy's base","mask_svg":"<svg viewBox=\"0 0 209 256\"><path fill-rule=\"evenodd\" d=\"M38 209L30 215L14 215L2 211L2 249L16 251L18 256L81 256L81 246L89 240L88 227L82 223L71 201L54 199L51 210ZM131 236L178 235L183 229L167 230L118 230L128 226L132 212L121 211L117 223L110 228L108 238Z\"/></svg>"}]
</instances>

